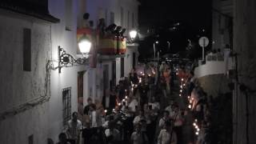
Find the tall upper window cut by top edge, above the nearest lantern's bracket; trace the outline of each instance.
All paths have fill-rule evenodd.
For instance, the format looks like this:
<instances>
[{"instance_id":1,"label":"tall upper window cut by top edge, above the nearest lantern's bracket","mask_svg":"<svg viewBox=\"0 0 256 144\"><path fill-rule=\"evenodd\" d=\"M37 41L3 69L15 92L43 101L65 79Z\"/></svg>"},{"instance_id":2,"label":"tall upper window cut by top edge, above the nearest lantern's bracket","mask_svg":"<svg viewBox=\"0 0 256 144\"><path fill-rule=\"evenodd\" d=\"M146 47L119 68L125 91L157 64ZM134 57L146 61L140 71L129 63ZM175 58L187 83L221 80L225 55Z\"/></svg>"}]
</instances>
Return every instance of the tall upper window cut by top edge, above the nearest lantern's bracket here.
<instances>
[{"instance_id":1,"label":"tall upper window cut by top edge, above the nearest lantern's bracket","mask_svg":"<svg viewBox=\"0 0 256 144\"><path fill-rule=\"evenodd\" d=\"M65 1L65 22L66 22L66 30L71 30L72 28L72 0Z\"/></svg>"}]
</instances>

